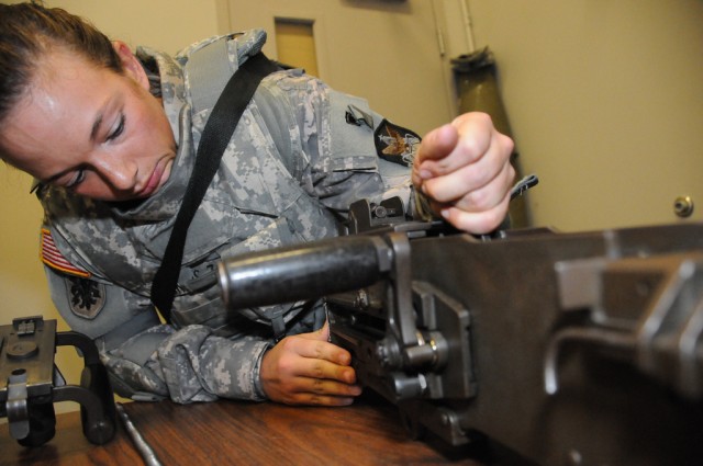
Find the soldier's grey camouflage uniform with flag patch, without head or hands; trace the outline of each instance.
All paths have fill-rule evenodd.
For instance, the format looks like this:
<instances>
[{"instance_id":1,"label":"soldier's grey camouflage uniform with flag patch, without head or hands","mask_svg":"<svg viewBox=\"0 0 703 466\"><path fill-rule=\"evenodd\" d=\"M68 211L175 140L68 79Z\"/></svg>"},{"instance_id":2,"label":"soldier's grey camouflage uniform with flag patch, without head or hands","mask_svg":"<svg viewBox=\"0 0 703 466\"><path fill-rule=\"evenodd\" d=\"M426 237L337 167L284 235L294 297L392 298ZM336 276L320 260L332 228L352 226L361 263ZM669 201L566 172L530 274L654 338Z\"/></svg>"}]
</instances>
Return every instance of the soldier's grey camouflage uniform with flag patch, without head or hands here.
<instances>
[{"instance_id":1,"label":"soldier's grey camouflage uniform with flag patch, without head or hands","mask_svg":"<svg viewBox=\"0 0 703 466\"><path fill-rule=\"evenodd\" d=\"M384 121L364 100L301 70L270 75L245 111L190 226L172 322L158 320L149 300L152 280L200 135L231 73L265 39L258 30L213 37L175 58L137 50L145 69L154 70L153 93L163 98L178 140L171 175L153 197L107 203L55 186L40 190L42 259L52 298L74 330L96 340L122 396L264 399L258 367L274 344L271 320L284 322L290 334L319 328L324 315L319 305L297 303L227 316L216 262L337 235L345 209L358 198L401 194L411 205L408 168L378 157L373 134L389 139L389 129L379 133ZM406 136L404 157L412 157L419 138Z\"/></svg>"}]
</instances>

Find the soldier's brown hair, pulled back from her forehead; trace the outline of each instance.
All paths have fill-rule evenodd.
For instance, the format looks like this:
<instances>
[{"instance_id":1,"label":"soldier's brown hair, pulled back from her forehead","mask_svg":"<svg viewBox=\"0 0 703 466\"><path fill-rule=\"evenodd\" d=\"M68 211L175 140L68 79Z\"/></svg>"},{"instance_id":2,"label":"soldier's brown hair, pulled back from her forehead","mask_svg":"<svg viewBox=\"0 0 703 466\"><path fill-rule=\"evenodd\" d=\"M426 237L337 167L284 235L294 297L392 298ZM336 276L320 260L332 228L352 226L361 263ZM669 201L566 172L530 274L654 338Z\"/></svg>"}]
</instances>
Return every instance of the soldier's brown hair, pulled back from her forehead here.
<instances>
[{"instance_id":1,"label":"soldier's brown hair, pulled back from her forehead","mask_svg":"<svg viewBox=\"0 0 703 466\"><path fill-rule=\"evenodd\" d=\"M30 2L0 4L0 124L29 90L42 58L57 46L122 72L108 36L82 18Z\"/></svg>"}]
</instances>

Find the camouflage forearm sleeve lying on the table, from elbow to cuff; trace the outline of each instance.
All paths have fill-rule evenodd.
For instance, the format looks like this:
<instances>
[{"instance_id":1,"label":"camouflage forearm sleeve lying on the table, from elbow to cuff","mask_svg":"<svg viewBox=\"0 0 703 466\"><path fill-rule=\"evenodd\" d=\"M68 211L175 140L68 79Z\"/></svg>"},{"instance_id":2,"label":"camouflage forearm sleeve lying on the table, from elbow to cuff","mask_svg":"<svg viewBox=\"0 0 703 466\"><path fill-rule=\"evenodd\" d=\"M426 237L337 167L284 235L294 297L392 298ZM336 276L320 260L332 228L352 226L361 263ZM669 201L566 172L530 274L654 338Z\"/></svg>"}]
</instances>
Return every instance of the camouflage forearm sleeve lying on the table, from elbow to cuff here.
<instances>
[{"instance_id":1,"label":"camouflage forearm sleeve lying on the table, from elbow to cuff","mask_svg":"<svg viewBox=\"0 0 703 466\"><path fill-rule=\"evenodd\" d=\"M135 351L145 344L147 351ZM119 388L115 391L136 400L161 397L179 404L217 398L258 401L266 398L258 375L270 344L255 337L217 337L205 326L176 330L161 325L105 352L103 361Z\"/></svg>"}]
</instances>

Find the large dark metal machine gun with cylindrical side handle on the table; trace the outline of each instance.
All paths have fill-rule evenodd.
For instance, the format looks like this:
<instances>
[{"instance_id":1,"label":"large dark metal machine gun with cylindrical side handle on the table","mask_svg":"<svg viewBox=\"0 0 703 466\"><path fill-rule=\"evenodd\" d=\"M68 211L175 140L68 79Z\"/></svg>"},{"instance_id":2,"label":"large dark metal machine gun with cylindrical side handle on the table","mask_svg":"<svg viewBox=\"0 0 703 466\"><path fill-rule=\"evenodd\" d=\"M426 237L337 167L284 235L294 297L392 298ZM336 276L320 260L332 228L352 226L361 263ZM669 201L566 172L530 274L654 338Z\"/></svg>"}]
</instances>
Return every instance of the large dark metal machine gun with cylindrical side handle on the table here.
<instances>
[{"instance_id":1,"label":"large dark metal machine gun with cylindrical side handle on the table","mask_svg":"<svg viewBox=\"0 0 703 466\"><path fill-rule=\"evenodd\" d=\"M353 206L352 235L221 263L230 309L324 297L414 436L543 465L703 461L703 225L477 238Z\"/></svg>"}]
</instances>

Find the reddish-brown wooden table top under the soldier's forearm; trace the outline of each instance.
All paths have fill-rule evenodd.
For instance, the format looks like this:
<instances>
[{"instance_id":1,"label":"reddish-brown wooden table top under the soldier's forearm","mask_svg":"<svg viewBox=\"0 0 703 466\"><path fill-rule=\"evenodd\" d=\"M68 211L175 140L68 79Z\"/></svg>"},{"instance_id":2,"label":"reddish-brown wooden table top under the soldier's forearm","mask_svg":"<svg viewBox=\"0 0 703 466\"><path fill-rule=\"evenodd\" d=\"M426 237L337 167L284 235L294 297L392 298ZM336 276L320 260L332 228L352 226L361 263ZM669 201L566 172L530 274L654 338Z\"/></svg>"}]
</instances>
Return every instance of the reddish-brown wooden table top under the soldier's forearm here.
<instances>
[{"instance_id":1,"label":"reddish-brown wooden table top under the soldier's forearm","mask_svg":"<svg viewBox=\"0 0 703 466\"><path fill-rule=\"evenodd\" d=\"M352 407L288 407L221 400L180 406L130 402L125 411L164 465L412 465L466 464L470 451L408 439L392 405L364 397ZM105 445L90 444L80 414L57 416L56 435L20 446L0 425L0 465L142 464L120 421Z\"/></svg>"}]
</instances>

